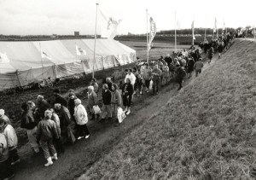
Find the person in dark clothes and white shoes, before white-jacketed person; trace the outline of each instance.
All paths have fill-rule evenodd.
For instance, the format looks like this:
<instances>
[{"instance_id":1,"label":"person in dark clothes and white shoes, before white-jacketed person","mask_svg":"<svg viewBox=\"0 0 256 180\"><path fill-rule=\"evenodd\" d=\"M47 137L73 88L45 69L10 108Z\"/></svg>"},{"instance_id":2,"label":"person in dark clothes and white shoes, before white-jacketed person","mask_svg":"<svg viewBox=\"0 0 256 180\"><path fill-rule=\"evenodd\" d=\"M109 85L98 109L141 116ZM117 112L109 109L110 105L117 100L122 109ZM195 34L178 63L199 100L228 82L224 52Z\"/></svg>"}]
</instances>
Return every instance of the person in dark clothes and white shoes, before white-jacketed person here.
<instances>
[{"instance_id":1,"label":"person in dark clothes and white shoes, before white-jacketed person","mask_svg":"<svg viewBox=\"0 0 256 180\"><path fill-rule=\"evenodd\" d=\"M123 104L125 106L126 114L131 113L131 98L133 94L133 87L131 85L131 79L125 78L125 84L122 88Z\"/></svg>"}]
</instances>

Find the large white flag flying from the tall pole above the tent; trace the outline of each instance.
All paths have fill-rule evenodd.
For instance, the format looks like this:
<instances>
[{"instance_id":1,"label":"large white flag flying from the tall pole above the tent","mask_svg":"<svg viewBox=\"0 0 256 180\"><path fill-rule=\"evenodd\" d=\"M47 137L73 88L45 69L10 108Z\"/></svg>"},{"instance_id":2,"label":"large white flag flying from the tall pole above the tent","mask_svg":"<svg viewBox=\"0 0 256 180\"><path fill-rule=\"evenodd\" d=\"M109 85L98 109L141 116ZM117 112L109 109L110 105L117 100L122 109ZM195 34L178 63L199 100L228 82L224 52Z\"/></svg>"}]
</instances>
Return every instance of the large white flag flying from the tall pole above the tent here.
<instances>
[{"instance_id":1,"label":"large white flag flying from the tall pole above the tent","mask_svg":"<svg viewBox=\"0 0 256 180\"><path fill-rule=\"evenodd\" d=\"M102 13L102 10L100 10L100 13L102 38L113 39L118 33L118 27L121 20L116 20L113 17L107 17Z\"/></svg>"}]
</instances>

